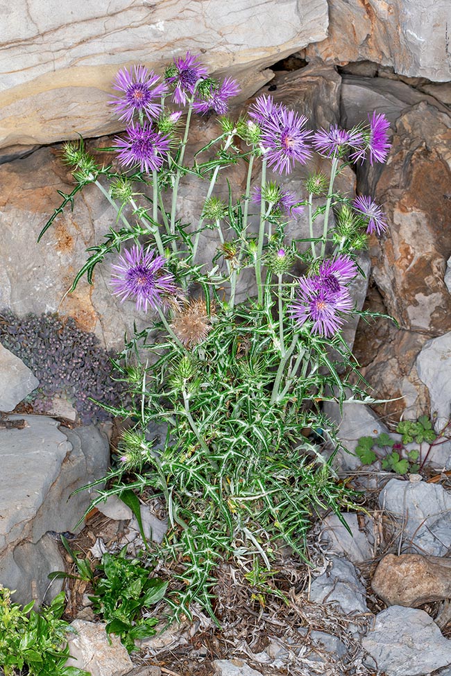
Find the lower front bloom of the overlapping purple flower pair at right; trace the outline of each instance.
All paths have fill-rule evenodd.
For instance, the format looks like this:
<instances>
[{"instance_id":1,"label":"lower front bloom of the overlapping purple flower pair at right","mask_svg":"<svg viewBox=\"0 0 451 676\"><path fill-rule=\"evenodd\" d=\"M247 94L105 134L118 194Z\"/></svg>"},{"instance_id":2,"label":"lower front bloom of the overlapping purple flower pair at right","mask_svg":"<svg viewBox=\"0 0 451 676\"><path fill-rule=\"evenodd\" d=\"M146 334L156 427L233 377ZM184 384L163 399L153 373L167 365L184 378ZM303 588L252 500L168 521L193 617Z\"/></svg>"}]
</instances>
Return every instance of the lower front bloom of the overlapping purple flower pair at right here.
<instances>
[{"instance_id":1,"label":"lower front bloom of the overlapping purple flower pair at right","mask_svg":"<svg viewBox=\"0 0 451 676\"><path fill-rule=\"evenodd\" d=\"M343 324L338 314L349 313L352 310L352 301L346 288L340 288L337 293L329 293L323 288L316 288L312 279L299 279L298 298L289 306L289 312L294 320L303 326L305 322L313 322L312 331L320 336L330 338L334 336Z\"/></svg>"}]
</instances>

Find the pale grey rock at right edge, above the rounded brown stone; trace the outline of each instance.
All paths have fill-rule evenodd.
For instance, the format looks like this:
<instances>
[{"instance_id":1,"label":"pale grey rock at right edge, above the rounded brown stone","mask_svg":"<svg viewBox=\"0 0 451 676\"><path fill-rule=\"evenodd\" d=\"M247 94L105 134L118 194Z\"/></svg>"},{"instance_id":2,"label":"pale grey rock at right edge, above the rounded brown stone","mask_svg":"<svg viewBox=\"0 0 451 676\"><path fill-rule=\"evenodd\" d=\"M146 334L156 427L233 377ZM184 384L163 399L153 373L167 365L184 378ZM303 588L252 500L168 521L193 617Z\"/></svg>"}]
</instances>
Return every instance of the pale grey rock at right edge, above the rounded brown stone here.
<instances>
[{"instance_id":1,"label":"pale grey rock at right edge, above the rounded brown stone","mask_svg":"<svg viewBox=\"0 0 451 676\"><path fill-rule=\"evenodd\" d=\"M443 486L391 479L380 493L379 503L402 528L403 552L433 556L448 553L451 494Z\"/></svg>"}]
</instances>

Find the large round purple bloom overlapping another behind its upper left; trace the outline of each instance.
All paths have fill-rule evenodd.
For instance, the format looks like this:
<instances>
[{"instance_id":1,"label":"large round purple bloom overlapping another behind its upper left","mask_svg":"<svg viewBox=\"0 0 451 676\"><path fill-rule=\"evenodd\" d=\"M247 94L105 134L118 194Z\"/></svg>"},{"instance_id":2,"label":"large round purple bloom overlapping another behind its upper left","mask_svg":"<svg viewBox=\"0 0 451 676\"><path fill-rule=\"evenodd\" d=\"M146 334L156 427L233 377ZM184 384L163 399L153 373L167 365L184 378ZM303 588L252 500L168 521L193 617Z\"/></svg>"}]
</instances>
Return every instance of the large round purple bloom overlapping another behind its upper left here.
<instances>
[{"instance_id":1,"label":"large round purple bloom overlapping another behind its upper left","mask_svg":"<svg viewBox=\"0 0 451 676\"><path fill-rule=\"evenodd\" d=\"M277 115L266 121L262 129L262 146L266 148L268 165L278 173L290 173L295 162L305 164L312 153L307 140L312 132L303 129L307 118L281 106Z\"/></svg>"}]
</instances>

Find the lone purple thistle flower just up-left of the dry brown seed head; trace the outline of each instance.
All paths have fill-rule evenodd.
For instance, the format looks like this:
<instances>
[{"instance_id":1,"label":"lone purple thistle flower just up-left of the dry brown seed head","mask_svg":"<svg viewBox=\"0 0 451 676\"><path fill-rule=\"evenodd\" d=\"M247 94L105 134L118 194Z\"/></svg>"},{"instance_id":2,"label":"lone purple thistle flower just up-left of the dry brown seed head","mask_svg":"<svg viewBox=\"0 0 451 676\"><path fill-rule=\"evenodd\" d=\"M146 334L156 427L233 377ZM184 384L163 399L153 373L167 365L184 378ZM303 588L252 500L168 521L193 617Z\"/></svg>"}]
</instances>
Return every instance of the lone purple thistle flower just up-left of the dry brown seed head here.
<instances>
[{"instance_id":1,"label":"lone purple thistle flower just up-left of the dry brown seed head","mask_svg":"<svg viewBox=\"0 0 451 676\"><path fill-rule=\"evenodd\" d=\"M156 310L162 305L162 295L176 293L173 275L162 270L166 259L154 256L155 252L135 245L119 256L119 265L111 266L114 278L110 284L121 303L133 297L137 310L147 312L149 307Z\"/></svg>"}]
</instances>

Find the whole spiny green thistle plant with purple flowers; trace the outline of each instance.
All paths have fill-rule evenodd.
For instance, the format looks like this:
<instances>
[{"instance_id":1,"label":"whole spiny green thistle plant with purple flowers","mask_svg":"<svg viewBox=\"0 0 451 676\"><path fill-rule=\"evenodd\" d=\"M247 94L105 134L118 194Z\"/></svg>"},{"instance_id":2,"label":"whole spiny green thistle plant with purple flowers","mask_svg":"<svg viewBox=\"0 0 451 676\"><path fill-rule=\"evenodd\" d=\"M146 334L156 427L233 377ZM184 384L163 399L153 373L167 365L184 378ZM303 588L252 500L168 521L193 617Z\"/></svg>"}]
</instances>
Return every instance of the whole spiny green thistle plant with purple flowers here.
<instances>
[{"instance_id":1,"label":"whole spiny green thistle plant with purple flowers","mask_svg":"<svg viewBox=\"0 0 451 676\"><path fill-rule=\"evenodd\" d=\"M352 130L314 132L305 116L271 96L259 96L235 121L228 104L239 85L210 78L189 53L161 82L155 78L135 67L115 80L121 94L111 105L127 128L108 150L123 171L96 163L83 141L75 150L66 146L76 184L41 236L91 186L117 212L116 227L90 248L73 288L85 274L92 283L95 266L108 259L112 293L150 318L115 360L131 404L105 408L132 422L110 487L99 488L94 503L130 489L161 496L169 532L144 559L173 560L168 603L176 616L189 614L194 602L214 614L221 560L257 561L270 571L282 543L305 555L316 512L352 505L352 491L337 482L323 453L338 442L321 403L342 404L349 388L353 397L364 391L350 383L357 364L340 331L357 312L349 288L359 274L357 252L368 234L384 231L386 219L371 197L353 202L334 181L348 162L385 161L388 123L374 115ZM187 164L192 116L206 113L220 116L219 135ZM329 159L329 177L306 169L299 194L285 191L278 176L305 166L315 152ZM223 200L219 175L237 164L244 166L244 194L229 189ZM206 180L205 196L198 222L186 225L178 191L192 176ZM314 207L318 198L323 204ZM309 238L290 240L287 223L302 212ZM314 235L318 216L321 236ZM218 238L212 261L199 260L206 229ZM238 302L245 271L255 291ZM161 424L162 450L152 432Z\"/></svg>"}]
</instances>

